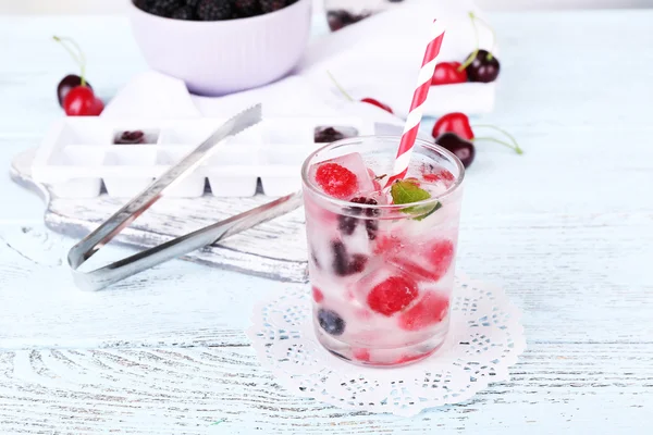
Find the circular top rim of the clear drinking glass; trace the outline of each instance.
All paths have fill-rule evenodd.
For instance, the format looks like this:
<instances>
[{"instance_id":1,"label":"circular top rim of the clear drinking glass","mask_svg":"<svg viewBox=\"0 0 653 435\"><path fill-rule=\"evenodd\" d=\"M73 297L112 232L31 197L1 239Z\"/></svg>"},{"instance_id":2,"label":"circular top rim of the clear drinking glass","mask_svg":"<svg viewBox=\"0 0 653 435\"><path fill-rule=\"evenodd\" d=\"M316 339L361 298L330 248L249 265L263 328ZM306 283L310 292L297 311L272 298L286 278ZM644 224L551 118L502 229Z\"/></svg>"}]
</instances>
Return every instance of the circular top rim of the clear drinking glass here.
<instances>
[{"instance_id":1,"label":"circular top rim of the clear drinking glass","mask_svg":"<svg viewBox=\"0 0 653 435\"><path fill-rule=\"evenodd\" d=\"M301 164L301 181L304 186L307 186L310 191L317 196L319 196L322 199L328 200L329 202L332 202L336 206L340 206L342 208L344 207L352 207L352 202L346 201L344 199L338 199L338 198L334 198L331 197L326 194L324 194L322 191L322 189L319 188L319 186L317 186L316 184L312 183L312 181L310 179L310 177L308 176L309 173L309 167L310 167L310 162L311 160L318 156L319 153L326 151L328 149L331 148L335 148L337 146L341 145L347 145L347 144L355 144L357 141L366 141L366 140L374 140L374 139L392 139L392 140L396 140L397 144L399 144L402 137L401 136L375 136L375 135L367 135L367 136L356 136L356 137L348 137L345 139L340 139L330 144L324 145L323 147L320 147L313 151L311 151L311 153L304 160L304 163ZM448 158L458 169L458 173L459 175L456 177L456 179L454 181L454 183L447 187L447 189L445 191L443 191L440 195L436 196L432 196L429 199L424 199L421 201L416 201L416 202L408 202L405 204L365 204L365 203L356 203L357 208L360 209L382 209L382 210L401 210L401 209L406 209L408 207L415 207L415 206L430 206L430 204L434 204L436 202L440 202L441 199L444 199L448 196L451 196L452 194L454 194L456 190L458 190L458 188L461 186L463 184L463 179L465 179L465 165L463 165L463 162L460 161L460 159L458 159L456 157L456 154L454 154L453 152L451 152L449 150L447 150L446 148L441 147L438 144L434 142L429 142L427 140L423 139L416 139L415 140L415 146L422 146L424 148L430 148L434 151L438 151L442 154L444 154L446 158Z\"/></svg>"}]
</instances>

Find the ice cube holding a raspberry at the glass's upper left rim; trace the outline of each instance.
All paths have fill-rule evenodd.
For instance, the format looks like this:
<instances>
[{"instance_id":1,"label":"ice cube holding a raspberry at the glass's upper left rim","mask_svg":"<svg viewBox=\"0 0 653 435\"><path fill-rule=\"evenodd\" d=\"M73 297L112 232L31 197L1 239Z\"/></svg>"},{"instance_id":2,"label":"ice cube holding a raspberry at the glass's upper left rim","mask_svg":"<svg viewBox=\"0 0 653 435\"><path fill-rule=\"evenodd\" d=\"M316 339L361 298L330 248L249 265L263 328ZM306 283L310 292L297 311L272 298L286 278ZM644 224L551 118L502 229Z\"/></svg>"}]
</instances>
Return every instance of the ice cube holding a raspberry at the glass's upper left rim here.
<instances>
[{"instance_id":1,"label":"ice cube holding a raspberry at the glass's upper left rim","mask_svg":"<svg viewBox=\"0 0 653 435\"><path fill-rule=\"evenodd\" d=\"M343 172L337 166L326 166L329 164L337 164L346 169L355 175L355 178L343 176ZM321 167L322 171L320 171ZM374 183L362 157L358 152L313 164L310 175L325 194L338 199L348 200L354 197L370 195L375 190Z\"/></svg>"}]
</instances>

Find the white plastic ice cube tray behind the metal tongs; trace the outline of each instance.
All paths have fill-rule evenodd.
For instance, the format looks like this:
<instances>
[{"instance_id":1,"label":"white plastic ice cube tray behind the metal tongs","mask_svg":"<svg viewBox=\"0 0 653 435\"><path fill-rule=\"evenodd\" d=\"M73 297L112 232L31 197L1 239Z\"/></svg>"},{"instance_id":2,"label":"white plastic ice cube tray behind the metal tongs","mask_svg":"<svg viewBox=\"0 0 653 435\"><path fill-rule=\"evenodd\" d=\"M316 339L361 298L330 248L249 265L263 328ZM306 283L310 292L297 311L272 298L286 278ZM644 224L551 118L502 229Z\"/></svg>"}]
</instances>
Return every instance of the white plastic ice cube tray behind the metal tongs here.
<instances>
[{"instance_id":1,"label":"white plastic ice cube tray behind the metal tongs","mask_svg":"<svg viewBox=\"0 0 653 435\"><path fill-rule=\"evenodd\" d=\"M45 137L33 177L60 198L93 198L104 190L111 197L131 198L225 121L66 117ZM315 142L316 128L329 126L353 127L358 136L374 133L374 124L360 119L267 119L217 147L207 162L168 195L248 197L256 194L258 178L268 196L296 191L301 187L304 159L324 145ZM144 132L148 144L114 144L123 132L133 130Z\"/></svg>"}]
</instances>

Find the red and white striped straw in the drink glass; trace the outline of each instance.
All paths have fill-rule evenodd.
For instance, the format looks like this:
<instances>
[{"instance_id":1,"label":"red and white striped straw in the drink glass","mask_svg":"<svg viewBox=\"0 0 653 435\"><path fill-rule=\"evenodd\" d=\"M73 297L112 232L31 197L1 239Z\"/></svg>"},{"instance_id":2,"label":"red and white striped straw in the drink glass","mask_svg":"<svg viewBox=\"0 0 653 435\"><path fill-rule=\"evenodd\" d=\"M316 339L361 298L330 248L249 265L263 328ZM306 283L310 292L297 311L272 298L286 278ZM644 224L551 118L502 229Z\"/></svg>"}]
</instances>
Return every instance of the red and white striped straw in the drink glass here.
<instances>
[{"instance_id":1,"label":"red and white striped straw in the drink glass","mask_svg":"<svg viewBox=\"0 0 653 435\"><path fill-rule=\"evenodd\" d=\"M410 104L410 112L406 119L406 126L404 127L402 141L399 142L393 173L387 179L385 187L390 187L395 181L404 178L408 172L410 154L412 153L412 147L415 146L415 139L417 139L419 124L422 119L422 104L427 101L427 97L429 96L429 89L431 88L431 82L438 63L438 54L440 54L440 48L442 47L442 40L444 39L444 28L438 24L436 20L433 21L431 29L433 38L429 42L427 52L424 53L424 60L422 61L419 78L417 80L417 89L415 89L415 94L412 95L412 103Z\"/></svg>"}]
</instances>

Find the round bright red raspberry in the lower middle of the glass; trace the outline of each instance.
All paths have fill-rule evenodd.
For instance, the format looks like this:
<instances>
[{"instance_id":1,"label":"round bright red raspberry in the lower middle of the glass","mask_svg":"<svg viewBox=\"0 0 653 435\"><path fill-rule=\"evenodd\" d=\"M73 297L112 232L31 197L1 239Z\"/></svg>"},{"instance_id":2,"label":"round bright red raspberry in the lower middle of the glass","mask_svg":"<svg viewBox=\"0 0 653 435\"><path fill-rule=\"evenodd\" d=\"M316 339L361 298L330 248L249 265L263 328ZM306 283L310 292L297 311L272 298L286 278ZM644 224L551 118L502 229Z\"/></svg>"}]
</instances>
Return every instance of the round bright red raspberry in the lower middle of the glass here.
<instances>
[{"instance_id":1,"label":"round bright red raspberry in the lower middle of the glass","mask_svg":"<svg viewBox=\"0 0 653 435\"><path fill-rule=\"evenodd\" d=\"M370 308L383 315L402 311L418 296L417 283L407 276L391 276L368 295Z\"/></svg>"}]
</instances>

